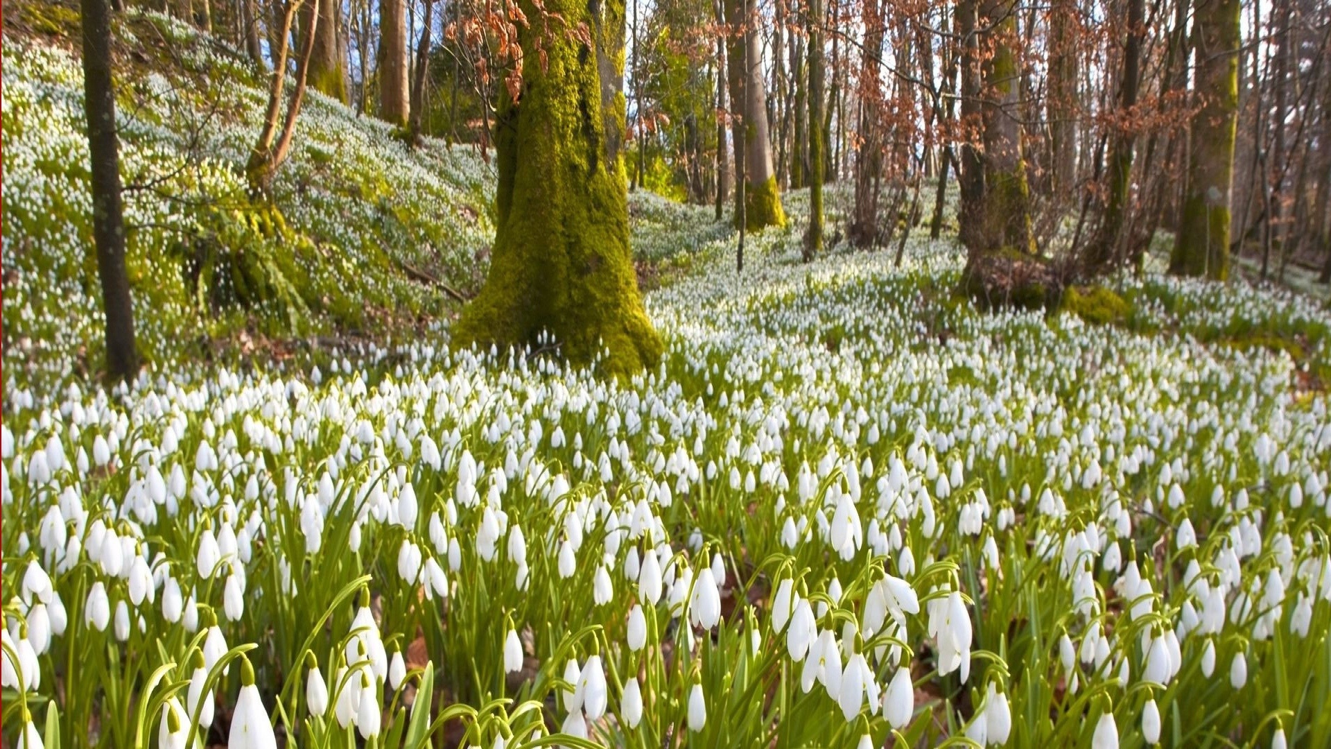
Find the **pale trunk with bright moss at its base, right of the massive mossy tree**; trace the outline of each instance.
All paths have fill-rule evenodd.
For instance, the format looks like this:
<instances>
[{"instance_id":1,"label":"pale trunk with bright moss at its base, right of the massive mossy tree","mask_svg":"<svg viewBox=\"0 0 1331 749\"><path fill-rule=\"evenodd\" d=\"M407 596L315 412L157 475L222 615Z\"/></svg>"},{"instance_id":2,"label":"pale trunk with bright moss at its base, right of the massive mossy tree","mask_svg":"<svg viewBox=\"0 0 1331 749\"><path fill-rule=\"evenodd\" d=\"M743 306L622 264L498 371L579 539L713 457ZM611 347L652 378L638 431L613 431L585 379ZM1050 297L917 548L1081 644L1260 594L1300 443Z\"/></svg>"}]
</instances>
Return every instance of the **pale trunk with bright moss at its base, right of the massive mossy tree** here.
<instances>
[{"instance_id":1,"label":"pale trunk with bright moss at its base, right of the massive mossy tree","mask_svg":"<svg viewBox=\"0 0 1331 749\"><path fill-rule=\"evenodd\" d=\"M763 80L763 37L759 29L757 0L725 0L732 36L729 48L731 105L740 112L744 148L744 221L749 231L784 227L781 189L772 163L772 137L767 120L767 91ZM739 32L739 33L736 33ZM739 81L741 91L736 92ZM736 164L740 160L736 159Z\"/></svg>"}]
</instances>

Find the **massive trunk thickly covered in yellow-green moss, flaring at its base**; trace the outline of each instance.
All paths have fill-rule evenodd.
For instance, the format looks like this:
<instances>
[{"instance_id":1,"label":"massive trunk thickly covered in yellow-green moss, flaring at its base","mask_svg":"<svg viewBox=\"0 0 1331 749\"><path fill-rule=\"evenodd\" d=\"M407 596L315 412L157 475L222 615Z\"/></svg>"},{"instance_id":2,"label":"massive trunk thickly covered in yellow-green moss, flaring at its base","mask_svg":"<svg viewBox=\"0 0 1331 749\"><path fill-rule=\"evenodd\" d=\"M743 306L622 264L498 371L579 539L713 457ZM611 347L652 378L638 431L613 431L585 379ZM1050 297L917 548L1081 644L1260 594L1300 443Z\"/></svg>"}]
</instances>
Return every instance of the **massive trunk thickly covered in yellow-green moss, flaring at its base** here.
<instances>
[{"instance_id":1,"label":"massive trunk thickly covered in yellow-green moss, flaring at its base","mask_svg":"<svg viewBox=\"0 0 1331 749\"><path fill-rule=\"evenodd\" d=\"M528 19L540 17L531 0ZM660 339L643 309L628 248L624 0L547 0L576 35L522 28L522 87L495 119L499 184L490 275L453 328L458 345L535 344L550 332L572 361L607 372L654 364ZM536 35L546 61L539 64Z\"/></svg>"}]
</instances>

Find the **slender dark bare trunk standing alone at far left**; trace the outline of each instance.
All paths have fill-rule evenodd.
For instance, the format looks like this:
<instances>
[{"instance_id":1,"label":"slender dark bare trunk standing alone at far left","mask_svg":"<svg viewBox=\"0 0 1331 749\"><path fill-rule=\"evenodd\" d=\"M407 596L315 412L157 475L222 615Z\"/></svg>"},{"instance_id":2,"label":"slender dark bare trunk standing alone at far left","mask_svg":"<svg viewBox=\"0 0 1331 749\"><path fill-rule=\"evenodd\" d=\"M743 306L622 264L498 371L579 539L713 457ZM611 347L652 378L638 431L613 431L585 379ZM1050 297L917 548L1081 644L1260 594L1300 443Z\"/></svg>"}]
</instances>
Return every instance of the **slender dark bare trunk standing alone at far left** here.
<instances>
[{"instance_id":1,"label":"slender dark bare trunk standing alone at far left","mask_svg":"<svg viewBox=\"0 0 1331 749\"><path fill-rule=\"evenodd\" d=\"M138 373L134 308L125 271L125 219L120 199L120 139L110 75L108 0L80 0L83 12L84 112L92 176L92 236L106 317L106 376L124 381Z\"/></svg>"}]
</instances>

